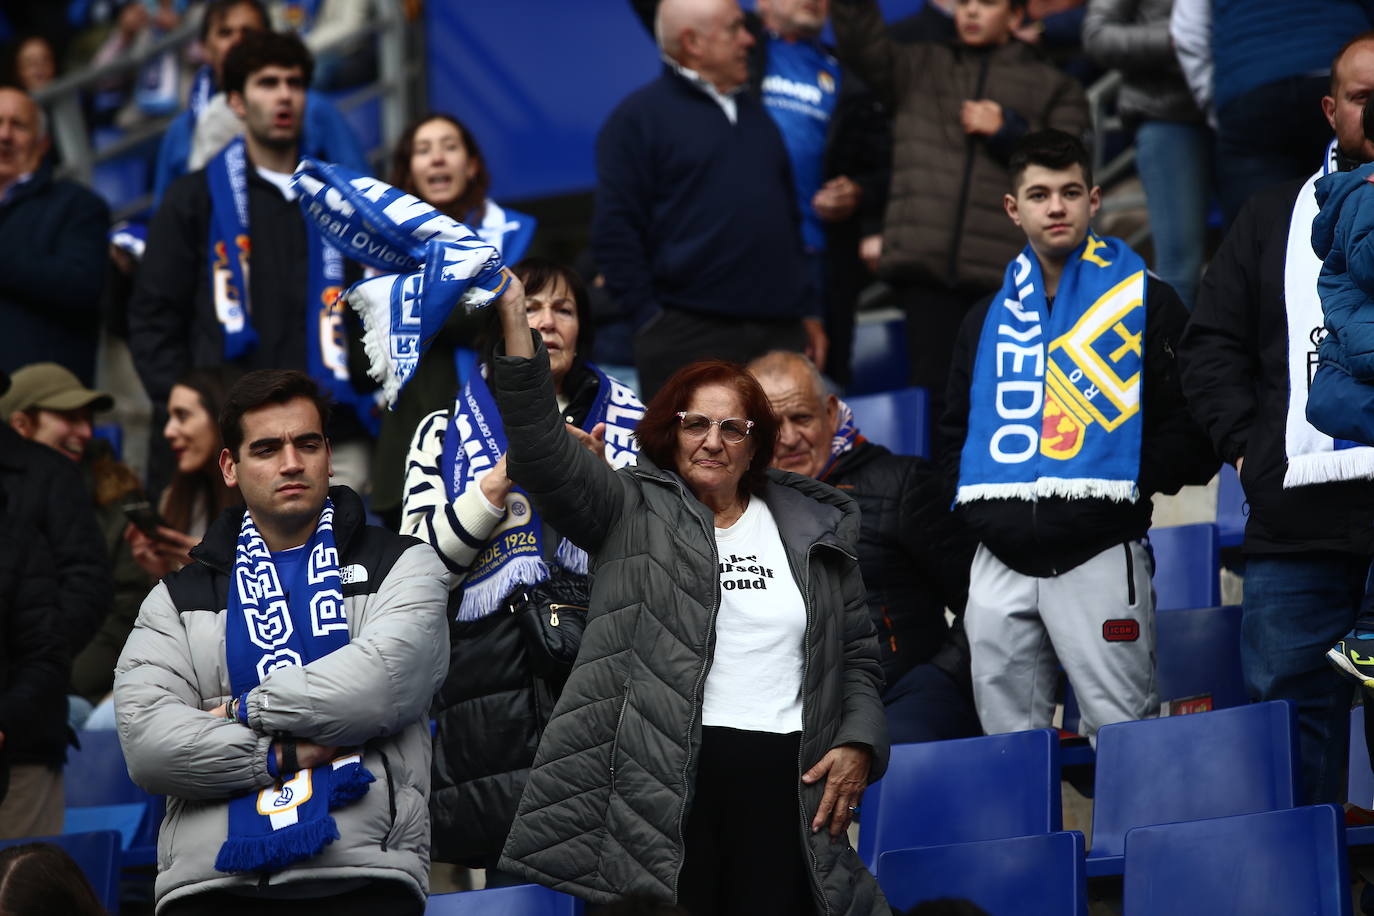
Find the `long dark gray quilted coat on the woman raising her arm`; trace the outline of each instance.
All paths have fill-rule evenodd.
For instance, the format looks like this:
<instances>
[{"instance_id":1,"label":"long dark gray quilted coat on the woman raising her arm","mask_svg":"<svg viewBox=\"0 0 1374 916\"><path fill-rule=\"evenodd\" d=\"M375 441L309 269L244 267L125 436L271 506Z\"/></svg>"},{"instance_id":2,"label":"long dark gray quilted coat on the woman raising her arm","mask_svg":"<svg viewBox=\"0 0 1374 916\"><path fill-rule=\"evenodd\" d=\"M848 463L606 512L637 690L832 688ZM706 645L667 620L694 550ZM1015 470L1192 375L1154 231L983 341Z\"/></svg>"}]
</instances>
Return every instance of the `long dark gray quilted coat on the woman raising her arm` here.
<instances>
[{"instance_id":1,"label":"long dark gray quilted coat on the woman raising her arm","mask_svg":"<svg viewBox=\"0 0 1374 916\"><path fill-rule=\"evenodd\" d=\"M548 357L499 357L495 393L508 472L551 525L592 558L581 652L540 742L500 867L596 904L676 900L701 747L720 574L710 511L643 456L611 471L563 430ZM757 497L756 497L757 499ZM812 834L823 786L801 773L840 744L888 765L882 669L855 558L855 503L769 472L768 503L807 604L797 831L816 912L888 916L857 854Z\"/></svg>"}]
</instances>

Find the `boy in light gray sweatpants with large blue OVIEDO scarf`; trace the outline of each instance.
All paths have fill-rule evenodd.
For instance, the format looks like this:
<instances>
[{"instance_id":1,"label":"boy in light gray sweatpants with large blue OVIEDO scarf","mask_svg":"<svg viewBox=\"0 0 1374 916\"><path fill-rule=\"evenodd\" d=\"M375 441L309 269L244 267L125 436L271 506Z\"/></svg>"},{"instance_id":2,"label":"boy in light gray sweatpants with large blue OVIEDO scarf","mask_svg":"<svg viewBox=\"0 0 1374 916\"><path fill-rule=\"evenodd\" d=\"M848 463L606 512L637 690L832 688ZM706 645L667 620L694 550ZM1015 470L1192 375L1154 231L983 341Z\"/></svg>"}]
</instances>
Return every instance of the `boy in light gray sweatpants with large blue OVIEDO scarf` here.
<instances>
[{"instance_id":1,"label":"boy in light gray sweatpants with large blue OVIEDO scarf","mask_svg":"<svg viewBox=\"0 0 1374 916\"><path fill-rule=\"evenodd\" d=\"M1088 737L1158 713L1150 496L1217 460L1179 390L1187 312L1120 239L1073 136L1025 136L1003 198L1026 247L960 328L941 420L980 541L965 628L988 733L1050 725L1058 662Z\"/></svg>"}]
</instances>

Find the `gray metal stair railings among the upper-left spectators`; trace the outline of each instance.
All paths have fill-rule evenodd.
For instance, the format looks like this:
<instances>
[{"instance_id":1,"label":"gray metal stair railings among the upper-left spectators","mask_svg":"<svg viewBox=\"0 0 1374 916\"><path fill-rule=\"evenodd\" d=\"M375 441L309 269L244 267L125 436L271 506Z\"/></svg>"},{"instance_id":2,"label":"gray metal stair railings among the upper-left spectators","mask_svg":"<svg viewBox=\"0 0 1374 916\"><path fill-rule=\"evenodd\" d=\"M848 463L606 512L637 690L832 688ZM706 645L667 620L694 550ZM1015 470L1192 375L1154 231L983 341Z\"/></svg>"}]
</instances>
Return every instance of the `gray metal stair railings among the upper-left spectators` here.
<instances>
[{"instance_id":1,"label":"gray metal stair railings among the upper-left spectators","mask_svg":"<svg viewBox=\"0 0 1374 916\"><path fill-rule=\"evenodd\" d=\"M341 111L350 111L374 98L382 96L386 99L387 103L382 104L382 144L386 150L390 150L411 119L412 93L408 92L408 82L418 73L420 65L407 62L407 29L401 0L376 0L374 11L374 19L365 26L349 34L338 36L317 48L316 54L350 51L374 37L376 38L376 82L345 96L338 102L338 107ZM176 29L150 43L137 54L124 55L99 67L87 67L78 73L67 74L33 93L34 100L48 111L49 133L58 148L62 150L59 174L91 184L98 163L126 155L140 144L161 136L166 130L176 115L150 118L126 130L118 140L100 150L95 150L92 148L91 133L87 129L85 114L81 108L81 93L95 89L111 78L136 71L150 60L169 51L180 51L196 40L201 33L202 12L202 7L194 7ZM375 150L370 150L368 152L370 155L376 154ZM131 216L146 209L150 203L151 195L143 195L121 206L113 216L115 218Z\"/></svg>"}]
</instances>

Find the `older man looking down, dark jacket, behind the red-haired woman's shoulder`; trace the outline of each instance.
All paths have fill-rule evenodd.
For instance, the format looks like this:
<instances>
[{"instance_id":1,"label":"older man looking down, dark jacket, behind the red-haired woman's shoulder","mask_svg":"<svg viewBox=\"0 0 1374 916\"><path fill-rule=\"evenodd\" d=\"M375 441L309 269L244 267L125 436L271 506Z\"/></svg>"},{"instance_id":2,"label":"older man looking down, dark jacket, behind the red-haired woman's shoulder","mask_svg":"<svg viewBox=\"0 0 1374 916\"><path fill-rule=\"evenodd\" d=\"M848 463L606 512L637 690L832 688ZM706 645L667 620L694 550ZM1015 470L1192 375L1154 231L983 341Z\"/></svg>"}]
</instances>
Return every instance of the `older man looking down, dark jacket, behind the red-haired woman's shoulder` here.
<instances>
[{"instance_id":1,"label":"older man looking down, dark jacket, behind the red-haired woman's shoulder","mask_svg":"<svg viewBox=\"0 0 1374 916\"><path fill-rule=\"evenodd\" d=\"M805 356L774 350L749 371L778 416L774 467L859 503L859 567L878 630L892 742L981 735L960 621L974 544L949 512L940 474L925 459L866 439Z\"/></svg>"}]
</instances>

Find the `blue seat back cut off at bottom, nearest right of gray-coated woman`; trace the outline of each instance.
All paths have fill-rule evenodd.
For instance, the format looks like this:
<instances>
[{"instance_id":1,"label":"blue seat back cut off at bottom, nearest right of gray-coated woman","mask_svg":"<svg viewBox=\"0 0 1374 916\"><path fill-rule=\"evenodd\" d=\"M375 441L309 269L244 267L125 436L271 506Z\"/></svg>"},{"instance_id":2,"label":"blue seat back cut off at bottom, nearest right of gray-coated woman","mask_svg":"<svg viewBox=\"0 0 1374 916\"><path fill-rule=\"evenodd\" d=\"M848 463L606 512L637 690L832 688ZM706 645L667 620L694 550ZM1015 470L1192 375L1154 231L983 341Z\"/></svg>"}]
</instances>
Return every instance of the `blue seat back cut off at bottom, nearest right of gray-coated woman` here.
<instances>
[{"instance_id":1,"label":"blue seat back cut off at bottom, nearest right of gray-coated woman","mask_svg":"<svg viewBox=\"0 0 1374 916\"><path fill-rule=\"evenodd\" d=\"M989 913L1087 916L1083 834L899 849L879 858L893 912L927 900L970 900Z\"/></svg>"}]
</instances>

